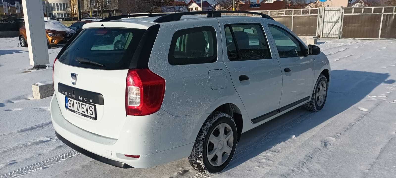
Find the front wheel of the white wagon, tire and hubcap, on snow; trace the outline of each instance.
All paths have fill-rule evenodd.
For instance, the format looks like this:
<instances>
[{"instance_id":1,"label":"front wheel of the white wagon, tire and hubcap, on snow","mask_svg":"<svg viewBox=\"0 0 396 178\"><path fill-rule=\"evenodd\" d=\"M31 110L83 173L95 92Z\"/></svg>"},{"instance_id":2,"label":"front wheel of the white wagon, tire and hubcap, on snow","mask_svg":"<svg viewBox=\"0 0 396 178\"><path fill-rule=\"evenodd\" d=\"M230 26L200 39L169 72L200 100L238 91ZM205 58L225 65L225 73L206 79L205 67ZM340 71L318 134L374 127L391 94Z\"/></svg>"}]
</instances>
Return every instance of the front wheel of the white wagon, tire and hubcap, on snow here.
<instances>
[{"instance_id":1,"label":"front wheel of the white wagon, tire and hubcap, on snow","mask_svg":"<svg viewBox=\"0 0 396 178\"><path fill-rule=\"evenodd\" d=\"M327 98L327 88L327 78L321 74L318 80L316 80L311 100L305 103L305 108L307 108L308 111L318 112L323 108Z\"/></svg>"}]
</instances>

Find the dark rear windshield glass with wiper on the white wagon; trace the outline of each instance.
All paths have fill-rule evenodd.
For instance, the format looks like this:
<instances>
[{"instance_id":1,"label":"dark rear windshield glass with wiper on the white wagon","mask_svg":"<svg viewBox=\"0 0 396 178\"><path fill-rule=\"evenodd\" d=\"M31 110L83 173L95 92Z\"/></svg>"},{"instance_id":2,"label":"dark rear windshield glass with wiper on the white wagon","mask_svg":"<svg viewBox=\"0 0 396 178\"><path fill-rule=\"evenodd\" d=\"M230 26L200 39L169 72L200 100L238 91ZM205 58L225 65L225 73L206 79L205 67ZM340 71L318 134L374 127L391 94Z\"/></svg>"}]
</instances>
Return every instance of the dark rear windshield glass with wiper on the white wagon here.
<instances>
[{"instance_id":1,"label":"dark rear windshield glass with wiper on the white wagon","mask_svg":"<svg viewBox=\"0 0 396 178\"><path fill-rule=\"evenodd\" d=\"M144 32L143 29L88 28L73 40L59 61L72 66L128 69Z\"/></svg>"}]
</instances>

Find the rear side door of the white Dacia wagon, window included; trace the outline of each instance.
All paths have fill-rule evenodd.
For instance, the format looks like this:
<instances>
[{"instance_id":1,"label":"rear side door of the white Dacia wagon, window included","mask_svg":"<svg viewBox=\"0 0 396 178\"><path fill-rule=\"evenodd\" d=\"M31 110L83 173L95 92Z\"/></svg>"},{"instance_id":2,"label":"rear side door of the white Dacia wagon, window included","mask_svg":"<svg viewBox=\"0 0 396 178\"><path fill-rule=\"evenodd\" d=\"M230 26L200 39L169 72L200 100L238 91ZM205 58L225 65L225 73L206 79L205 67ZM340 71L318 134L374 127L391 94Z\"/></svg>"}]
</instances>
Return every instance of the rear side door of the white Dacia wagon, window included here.
<instances>
[{"instance_id":1,"label":"rear side door of the white Dacia wagon, window included","mask_svg":"<svg viewBox=\"0 0 396 178\"><path fill-rule=\"evenodd\" d=\"M282 72L268 45L260 18L219 18L223 58L232 82L253 123L277 114L282 92Z\"/></svg>"}]
</instances>

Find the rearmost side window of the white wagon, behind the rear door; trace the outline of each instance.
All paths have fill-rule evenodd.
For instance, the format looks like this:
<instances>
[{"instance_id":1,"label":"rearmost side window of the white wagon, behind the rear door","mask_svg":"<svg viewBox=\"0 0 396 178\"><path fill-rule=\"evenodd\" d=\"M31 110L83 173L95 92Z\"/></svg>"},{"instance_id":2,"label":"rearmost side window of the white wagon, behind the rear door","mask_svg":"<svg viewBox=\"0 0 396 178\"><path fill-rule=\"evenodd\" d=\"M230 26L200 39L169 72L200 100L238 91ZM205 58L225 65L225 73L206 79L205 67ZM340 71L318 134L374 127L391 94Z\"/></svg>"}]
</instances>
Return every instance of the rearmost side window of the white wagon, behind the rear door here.
<instances>
[{"instance_id":1,"label":"rearmost side window of the white wagon, behind the rear door","mask_svg":"<svg viewBox=\"0 0 396 178\"><path fill-rule=\"evenodd\" d=\"M200 64L216 60L217 42L213 27L188 28L173 34L168 55L169 64Z\"/></svg>"}]
</instances>

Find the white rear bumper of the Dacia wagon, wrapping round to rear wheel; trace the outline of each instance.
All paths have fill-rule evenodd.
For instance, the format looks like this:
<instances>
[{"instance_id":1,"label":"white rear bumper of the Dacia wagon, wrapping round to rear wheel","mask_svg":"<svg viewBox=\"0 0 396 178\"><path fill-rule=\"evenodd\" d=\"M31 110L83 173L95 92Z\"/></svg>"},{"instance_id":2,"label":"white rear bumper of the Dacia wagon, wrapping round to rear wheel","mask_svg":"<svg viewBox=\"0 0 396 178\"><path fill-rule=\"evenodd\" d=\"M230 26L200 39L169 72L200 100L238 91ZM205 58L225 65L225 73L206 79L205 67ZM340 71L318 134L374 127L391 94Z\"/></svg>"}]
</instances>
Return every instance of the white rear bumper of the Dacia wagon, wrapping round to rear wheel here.
<instances>
[{"instance_id":1,"label":"white rear bumper of the Dacia wagon, wrapping round to rear wheel","mask_svg":"<svg viewBox=\"0 0 396 178\"><path fill-rule=\"evenodd\" d=\"M52 124L62 142L88 157L123 168L153 167L187 157L202 125L197 121L198 116L175 117L160 110L154 118L129 118L115 139L85 131L67 121L55 94L50 106ZM193 129L195 125L199 128ZM126 157L125 154L140 157Z\"/></svg>"}]
</instances>

